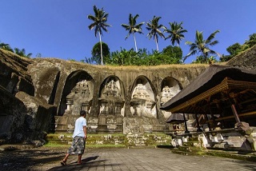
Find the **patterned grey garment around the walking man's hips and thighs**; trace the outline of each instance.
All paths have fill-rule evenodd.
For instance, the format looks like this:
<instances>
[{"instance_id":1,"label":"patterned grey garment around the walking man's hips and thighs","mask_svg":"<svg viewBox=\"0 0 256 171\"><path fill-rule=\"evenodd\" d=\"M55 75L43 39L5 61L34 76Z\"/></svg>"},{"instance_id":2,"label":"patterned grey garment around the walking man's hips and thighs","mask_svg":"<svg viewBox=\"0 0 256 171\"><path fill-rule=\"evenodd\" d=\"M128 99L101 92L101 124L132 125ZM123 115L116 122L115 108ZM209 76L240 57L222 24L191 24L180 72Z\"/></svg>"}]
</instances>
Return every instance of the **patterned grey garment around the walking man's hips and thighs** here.
<instances>
[{"instance_id":1,"label":"patterned grey garment around the walking man's hips and thighs","mask_svg":"<svg viewBox=\"0 0 256 171\"><path fill-rule=\"evenodd\" d=\"M86 141L84 137L74 137L72 145L67 153L69 154L82 154L84 153Z\"/></svg>"}]
</instances>

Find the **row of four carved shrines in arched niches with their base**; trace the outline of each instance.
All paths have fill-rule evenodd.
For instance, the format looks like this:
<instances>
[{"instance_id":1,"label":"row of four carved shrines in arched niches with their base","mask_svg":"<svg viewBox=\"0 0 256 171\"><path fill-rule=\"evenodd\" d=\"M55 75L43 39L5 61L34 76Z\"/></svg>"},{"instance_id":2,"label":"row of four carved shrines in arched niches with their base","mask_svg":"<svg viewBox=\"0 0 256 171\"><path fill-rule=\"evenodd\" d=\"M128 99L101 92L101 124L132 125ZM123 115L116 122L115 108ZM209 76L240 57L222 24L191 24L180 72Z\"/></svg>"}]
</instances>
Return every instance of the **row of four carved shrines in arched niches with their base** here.
<instances>
[{"instance_id":1,"label":"row of four carved shrines in arched niches with their base","mask_svg":"<svg viewBox=\"0 0 256 171\"><path fill-rule=\"evenodd\" d=\"M75 76L77 79L72 79ZM85 76L86 75L86 76ZM83 79L82 79L83 78ZM90 78L88 80L84 78ZM77 80L77 82L75 82ZM81 109L88 113L88 130L90 132L121 132L121 133L152 133L168 132L170 125L159 121L161 113L166 119L170 113L158 111L157 93L152 83L145 76L134 80L130 93L130 114L127 114L126 96L123 83L116 76L106 78L98 92L98 114L92 114L93 78L83 72L74 72L66 80L62 96L62 116L56 116L56 131L72 131L75 118ZM174 78L167 77L162 82L160 105L174 97L180 91L180 86ZM70 90L69 90L70 89ZM66 94L66 95L65 95ZM66 103L64 103L66 101ZM92 110L92 111L91 111Z\"/></svg>"}]
</instances>

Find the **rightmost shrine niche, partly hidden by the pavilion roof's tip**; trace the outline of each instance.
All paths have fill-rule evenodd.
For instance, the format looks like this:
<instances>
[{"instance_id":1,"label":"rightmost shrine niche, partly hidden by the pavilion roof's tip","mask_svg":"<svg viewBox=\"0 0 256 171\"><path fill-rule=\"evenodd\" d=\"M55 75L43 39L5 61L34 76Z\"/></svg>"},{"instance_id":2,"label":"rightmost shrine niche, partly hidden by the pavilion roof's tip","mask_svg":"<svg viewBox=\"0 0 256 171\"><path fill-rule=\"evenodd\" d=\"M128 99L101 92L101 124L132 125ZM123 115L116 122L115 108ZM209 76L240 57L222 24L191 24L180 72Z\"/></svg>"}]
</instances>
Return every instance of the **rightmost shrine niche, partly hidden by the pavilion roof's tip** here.
<instances>
[{"instance_id":1,"label":"rightmost shrine niche, partly hidden by the pavilion roof's tip","mask_svg":"<svg viewBox=\"0 0 256 171\"><path fill-rule=\"evenodd\" d=\"M181 91L180 85L174 78L167 77L163 79L161 86L161 105L166 101L169 101L172 97L174 97L178 92ZM166 112L162 110L162 113L166 119L168 119L171 115L170 112Z\"/></svg>"}]
</instances>

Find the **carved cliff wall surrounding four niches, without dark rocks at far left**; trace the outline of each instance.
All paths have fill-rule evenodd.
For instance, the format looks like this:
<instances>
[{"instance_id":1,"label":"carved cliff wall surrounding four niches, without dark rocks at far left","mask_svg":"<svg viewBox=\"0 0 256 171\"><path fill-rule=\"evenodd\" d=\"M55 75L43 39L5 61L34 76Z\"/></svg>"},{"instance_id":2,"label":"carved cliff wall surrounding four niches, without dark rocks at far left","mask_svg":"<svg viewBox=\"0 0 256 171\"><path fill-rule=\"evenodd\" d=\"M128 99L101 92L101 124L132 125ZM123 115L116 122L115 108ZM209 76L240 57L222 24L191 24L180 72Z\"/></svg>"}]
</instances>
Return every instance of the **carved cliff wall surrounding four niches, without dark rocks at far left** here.
<instances>
[{"instance_id":1,"label":"carved cliff wall surrounding four niches, without dark rocks at far left","mask_svg":"<svg viewBox=\"0 0 256 171\"><path fill-rule=\"evenodd\" d=\"M206 67L93 66L36 58L28 72L35 97L57 107L56 131L72 131L78 112L85 109L91 132L145 133L169 130L170 113L160 110L160 105Z\"/></svg>"}]
</instances>

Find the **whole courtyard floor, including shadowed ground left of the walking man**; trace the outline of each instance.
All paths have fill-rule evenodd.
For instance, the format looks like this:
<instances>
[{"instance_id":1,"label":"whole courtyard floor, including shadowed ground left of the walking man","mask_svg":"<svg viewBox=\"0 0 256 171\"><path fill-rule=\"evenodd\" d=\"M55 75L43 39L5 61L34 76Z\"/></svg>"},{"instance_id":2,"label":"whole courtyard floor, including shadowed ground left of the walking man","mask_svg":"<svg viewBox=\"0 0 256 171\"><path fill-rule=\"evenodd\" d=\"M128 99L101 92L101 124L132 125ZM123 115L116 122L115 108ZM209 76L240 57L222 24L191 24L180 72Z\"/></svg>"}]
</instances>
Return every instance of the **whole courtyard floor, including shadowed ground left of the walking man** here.
<instances>
[{"instance_id":1,"label":"whole courtyard floor, including shadowed ground left of the walking man","mask_svg":"<svg viewBox=\"0 0 256 171\"><path fill-rule=\"evenodd\" d=\"M224 157L186 156L171 153L170 149L86 149L83 164L70 156L67 165L59 161L66 149L26 149L0 152L1 170L256 170L256 162Z\"/></svg>"}]
</instances>

